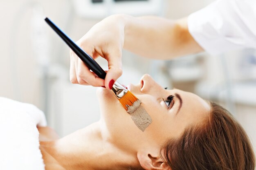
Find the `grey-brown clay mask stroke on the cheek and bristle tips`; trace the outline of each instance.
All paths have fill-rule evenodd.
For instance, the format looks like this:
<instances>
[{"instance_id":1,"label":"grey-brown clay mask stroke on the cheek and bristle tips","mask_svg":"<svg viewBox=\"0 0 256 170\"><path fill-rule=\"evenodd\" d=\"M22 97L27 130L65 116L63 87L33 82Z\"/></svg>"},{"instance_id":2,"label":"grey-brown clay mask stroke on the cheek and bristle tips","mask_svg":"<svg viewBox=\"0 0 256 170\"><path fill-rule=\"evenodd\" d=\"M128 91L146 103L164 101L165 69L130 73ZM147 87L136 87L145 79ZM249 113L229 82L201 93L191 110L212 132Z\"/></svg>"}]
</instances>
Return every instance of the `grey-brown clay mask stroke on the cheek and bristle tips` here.
<instances>
[{"instance_id":1,"label":"grey-brown clay mask stroke on the cheek and bristle tips","mask_svg":"<svg viewBox=\"0 0 256 170\"><path fill-rule=\"evenodd\" d=\"M144 107L141 106L140 100L137 100L132 106L128 107L127 112L130 113L135 125L142 132L144 132L144 130L152 123L150 115L148 115Z\"/></svg>"}]
</instances>

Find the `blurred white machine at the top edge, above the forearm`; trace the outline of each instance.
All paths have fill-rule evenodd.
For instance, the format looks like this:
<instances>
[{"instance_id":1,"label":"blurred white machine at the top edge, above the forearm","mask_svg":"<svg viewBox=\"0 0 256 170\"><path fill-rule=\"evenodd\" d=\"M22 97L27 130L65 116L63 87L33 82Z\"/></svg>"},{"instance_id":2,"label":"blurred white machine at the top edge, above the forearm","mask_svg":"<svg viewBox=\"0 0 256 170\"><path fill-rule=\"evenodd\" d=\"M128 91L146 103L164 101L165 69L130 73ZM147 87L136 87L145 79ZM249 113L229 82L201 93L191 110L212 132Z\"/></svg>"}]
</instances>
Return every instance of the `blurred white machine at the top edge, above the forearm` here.
<instances>
[{"instance_id":1,"label":"blurred white machine at the top edge, above the forearm","mask_svg":"<svg viewBox=\"0 0 256 170\"><path fill-rule=\"evenodd\" d=\"M76 13L84 18L105 18L112 14L162 15L163 0L74 0Z\"/></svg>"}]
</instances>

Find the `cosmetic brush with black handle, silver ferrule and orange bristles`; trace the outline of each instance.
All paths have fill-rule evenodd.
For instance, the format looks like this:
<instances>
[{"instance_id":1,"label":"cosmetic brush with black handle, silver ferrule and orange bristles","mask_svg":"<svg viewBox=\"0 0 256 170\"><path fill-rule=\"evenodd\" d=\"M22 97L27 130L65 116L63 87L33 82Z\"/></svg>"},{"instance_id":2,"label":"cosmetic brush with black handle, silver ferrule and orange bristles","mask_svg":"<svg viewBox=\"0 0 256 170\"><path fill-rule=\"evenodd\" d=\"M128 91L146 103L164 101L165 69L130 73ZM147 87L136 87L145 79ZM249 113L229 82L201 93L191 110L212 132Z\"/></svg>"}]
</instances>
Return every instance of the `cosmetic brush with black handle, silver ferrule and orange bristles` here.
<instances>
[{"instance_id":1,"label":"cosmetic brush with black handle, silver ferrule and orange bristles","mask_svg":"<svg viewBox=\"0 0 256 170\"><path fill-rule=\"evenodd\" d=\"M76 43L71 40L61 29L56 26L49 18L45 18L45 22L61 37L61 39L76 53L76 55L85 63L85 65L92 70L98 77L105 79L106 72L99 66L99 64ZM128 113L133 113L141 104L140 100L135 97L128 89L120 83L115 82L111 91L115 94L121 105Z\"/></svg>"}]
</instances>

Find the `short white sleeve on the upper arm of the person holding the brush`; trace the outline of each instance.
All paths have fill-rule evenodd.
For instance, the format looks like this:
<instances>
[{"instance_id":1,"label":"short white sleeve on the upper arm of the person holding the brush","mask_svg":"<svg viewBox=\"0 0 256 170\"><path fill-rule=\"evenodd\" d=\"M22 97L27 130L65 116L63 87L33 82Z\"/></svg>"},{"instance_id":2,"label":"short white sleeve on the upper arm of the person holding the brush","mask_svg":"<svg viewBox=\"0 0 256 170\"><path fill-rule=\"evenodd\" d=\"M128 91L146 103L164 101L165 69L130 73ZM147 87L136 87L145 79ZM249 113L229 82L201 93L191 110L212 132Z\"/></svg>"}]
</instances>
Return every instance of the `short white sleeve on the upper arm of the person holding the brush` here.
<instances>
[{"instance_id":1,"label":"short white sleeve on the upper arm of the person holding the brush","mask_svg":"<svg viewBox=\"0 0 256 170\"><path fill-rule=\"evenodd\" d=\"M212 55L256 49L256 0L216 0L192 13L189 32Z\"/></svg>"}]
</instances>

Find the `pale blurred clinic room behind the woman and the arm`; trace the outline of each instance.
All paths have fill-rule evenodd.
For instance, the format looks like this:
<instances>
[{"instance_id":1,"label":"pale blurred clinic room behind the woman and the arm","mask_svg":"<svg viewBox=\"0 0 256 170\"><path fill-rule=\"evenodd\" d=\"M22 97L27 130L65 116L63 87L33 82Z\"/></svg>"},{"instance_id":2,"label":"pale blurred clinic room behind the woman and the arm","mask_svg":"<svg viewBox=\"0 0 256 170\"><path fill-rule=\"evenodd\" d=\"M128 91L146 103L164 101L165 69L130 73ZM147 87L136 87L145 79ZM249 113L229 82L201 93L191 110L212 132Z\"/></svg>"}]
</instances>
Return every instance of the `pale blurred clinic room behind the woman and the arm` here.
<instances>
[{"instance_id":1,"label":"pale blurred clinic room behind the woman and the arm","mask_svg":"<svg viewBox=\"0 0 256 170\"><path fill-rule=\"evenodd\" d=\"M1 0L0 96L36 105L62 137L99 120L96 88L71 84L69 48L44 22L51 18L73 40L114 13L178 19L213 0ZM179 88L225 106L256 148L256 51L207 53L172 61L123 51L122 84L145 73L163 87ZM107 69L106 61L97 62Z\"/></svg>"}]
</instances>

